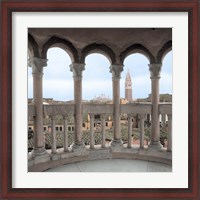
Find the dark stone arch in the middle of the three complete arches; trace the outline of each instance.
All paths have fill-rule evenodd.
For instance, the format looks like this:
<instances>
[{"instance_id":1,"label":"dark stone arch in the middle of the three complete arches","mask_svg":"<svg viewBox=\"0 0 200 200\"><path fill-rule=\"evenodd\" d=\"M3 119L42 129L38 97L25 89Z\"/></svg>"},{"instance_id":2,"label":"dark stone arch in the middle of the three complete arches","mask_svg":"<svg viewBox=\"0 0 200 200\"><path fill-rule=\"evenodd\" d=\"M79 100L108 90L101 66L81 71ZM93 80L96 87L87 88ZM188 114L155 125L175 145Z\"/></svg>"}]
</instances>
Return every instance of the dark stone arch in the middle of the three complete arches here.
<instances>
[{"instance_id":1,"label":"dark stone arch in the middle of the three complete arches","mask_svg":"<svg viewBox=\"0 0 200 200\"><path fill-rule=\"evenodd\" d=\"M96 43L90 44L82 50L81 62L84 63L86 56L91 53L100 53L106 56L110 61L111 65L116 62L115 53L110 47L106 46L105 44L96 44Z\"/></svg>"}]
</instances>

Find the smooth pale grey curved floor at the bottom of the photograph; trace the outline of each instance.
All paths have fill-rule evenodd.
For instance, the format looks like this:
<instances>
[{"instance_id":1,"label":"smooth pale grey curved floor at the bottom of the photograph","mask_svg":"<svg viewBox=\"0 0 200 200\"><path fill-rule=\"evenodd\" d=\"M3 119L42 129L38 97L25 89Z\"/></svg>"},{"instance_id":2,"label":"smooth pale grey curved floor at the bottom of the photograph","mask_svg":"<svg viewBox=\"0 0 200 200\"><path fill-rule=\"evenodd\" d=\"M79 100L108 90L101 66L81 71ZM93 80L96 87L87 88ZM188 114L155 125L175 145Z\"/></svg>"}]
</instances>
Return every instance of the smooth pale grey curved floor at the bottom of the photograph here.
<instances>
[{"instance_id":1,"label":"smooth pale grey curved floor at the bottom of the photograph","mask_svg":"<svg viewBox=\"0 0 200 200\"><path fill-rule=\"evenodd\" d=\"M67 164L46 172L172 172L172 166L143 160L106 159Z\"/></svg>"}]
</instances>

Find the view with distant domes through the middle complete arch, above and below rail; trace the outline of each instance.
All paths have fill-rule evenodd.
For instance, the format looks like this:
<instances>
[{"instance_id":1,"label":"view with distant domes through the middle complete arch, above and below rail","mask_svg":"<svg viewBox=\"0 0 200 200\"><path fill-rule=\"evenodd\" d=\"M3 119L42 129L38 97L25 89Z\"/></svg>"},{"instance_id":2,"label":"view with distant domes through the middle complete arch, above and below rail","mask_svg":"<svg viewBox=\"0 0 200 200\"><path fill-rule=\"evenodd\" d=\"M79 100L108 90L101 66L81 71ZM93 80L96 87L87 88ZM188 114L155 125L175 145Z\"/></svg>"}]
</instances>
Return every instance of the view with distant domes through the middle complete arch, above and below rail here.
<instances>
[{"instance_id":1,"label":"view with distant domes through the middle complete arch, above and below rail","mask_svg":"<svg viewBox=\"0 0 200 200\"><path fill-rule=\"evenodd\" d=\"M112 75L110 62L99 53L85 59L83 73L83 102L95 106L96 113L83 112L83 138L85 144L105 147L112 138L112 113L101 114L102 105L112 104ZM90 136L90 137L88 137Z\"/></svg>"}]
</instances>

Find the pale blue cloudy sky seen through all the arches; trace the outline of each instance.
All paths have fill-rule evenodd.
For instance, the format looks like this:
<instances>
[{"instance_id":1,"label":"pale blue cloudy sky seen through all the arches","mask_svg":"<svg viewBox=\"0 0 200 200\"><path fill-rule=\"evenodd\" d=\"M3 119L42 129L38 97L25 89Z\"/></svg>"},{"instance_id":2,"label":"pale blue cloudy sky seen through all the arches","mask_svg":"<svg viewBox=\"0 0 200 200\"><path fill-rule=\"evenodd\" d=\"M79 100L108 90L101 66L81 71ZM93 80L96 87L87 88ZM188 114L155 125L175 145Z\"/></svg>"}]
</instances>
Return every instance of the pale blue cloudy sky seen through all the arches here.
<instances>
[{"instance_id":1,"label":"pale blue cloudy sky seen through all the arches","mask_svg":"<svg viewBox=\"0 0 200 200\"><path fill-rule=\"evenodd\" d=\"M44 68L43 97L68 101L73 97L73 78L69 65L68 54L59 49L51 48L47 53L48 65ZM84 100L91 100L100 95L112 98L112 74L110 63L101 54L90 54L86 57L83 71ZM120 95L125 96L125 77L129 70L132 77L133 98L146 98L151 93L151 80L148 67L149 61L142 54L132 54L125 59L124 71L121 73ZM172 94L172 52L164 60L160 79L160 93ZM33 97L32 70L28 68L28 98Z\"/></svg>"}]
</instances>

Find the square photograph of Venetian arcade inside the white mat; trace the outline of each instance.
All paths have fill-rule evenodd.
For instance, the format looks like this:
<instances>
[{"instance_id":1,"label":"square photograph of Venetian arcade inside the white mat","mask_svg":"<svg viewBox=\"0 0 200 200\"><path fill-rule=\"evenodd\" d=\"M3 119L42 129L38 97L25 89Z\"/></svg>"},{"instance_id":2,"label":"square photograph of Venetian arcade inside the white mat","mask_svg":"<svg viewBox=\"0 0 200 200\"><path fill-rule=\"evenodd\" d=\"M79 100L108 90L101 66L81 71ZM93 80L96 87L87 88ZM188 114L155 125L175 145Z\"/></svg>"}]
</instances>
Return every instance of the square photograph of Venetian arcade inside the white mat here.
<instances>
[{"instance_id":1,"label":"square photograph of Venetian arcade inside the white mat","mask_svg":"<svg viewBox=\"0 0 200 200\"><path fill-rule=\"evenodd\" d=\"M27 63L30 172L172 171L171 28L29 28Z\"/></svg>"}]
</instances>

